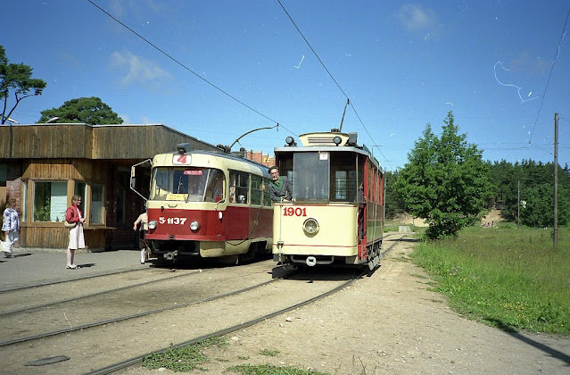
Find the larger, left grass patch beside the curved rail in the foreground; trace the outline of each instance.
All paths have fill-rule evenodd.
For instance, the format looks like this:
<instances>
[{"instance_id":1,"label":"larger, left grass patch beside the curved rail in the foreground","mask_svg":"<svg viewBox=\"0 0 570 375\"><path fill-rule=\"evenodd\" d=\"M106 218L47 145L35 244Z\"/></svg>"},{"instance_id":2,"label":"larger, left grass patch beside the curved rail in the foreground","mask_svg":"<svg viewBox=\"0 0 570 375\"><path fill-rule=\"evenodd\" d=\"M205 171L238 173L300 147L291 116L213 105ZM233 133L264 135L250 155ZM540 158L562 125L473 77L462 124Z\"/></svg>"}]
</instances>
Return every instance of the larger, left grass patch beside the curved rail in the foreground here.
<instances>
[{"instance_id":1,"label":"larger, left grass patch beside the curved rail in the foreground","mask_svg":"<svg viewBox=\"0 0 570 375\"><path fill-rule=\"evenodd\" d=\"M172 371L187 372L195 369L207 371L201 365L209 360L202 349L211 346L226 347L227 338L212 337L190 346L170 347L167 351L145 357L143 366L150 370L166 368Z\"/></svg>"}]
</instances>

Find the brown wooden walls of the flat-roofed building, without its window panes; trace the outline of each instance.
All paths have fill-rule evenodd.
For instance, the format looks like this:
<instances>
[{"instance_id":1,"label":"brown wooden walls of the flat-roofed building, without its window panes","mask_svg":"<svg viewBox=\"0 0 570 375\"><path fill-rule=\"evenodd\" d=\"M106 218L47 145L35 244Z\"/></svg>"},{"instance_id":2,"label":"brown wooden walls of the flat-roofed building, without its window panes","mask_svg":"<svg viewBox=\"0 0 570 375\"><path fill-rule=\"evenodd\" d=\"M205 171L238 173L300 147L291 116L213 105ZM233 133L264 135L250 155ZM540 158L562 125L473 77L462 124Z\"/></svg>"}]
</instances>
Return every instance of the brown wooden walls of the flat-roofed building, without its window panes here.
<instances>
[{"instance_id":1,"label":"brown wooden walls of the flat-roofed building, without its window panes","mask_svg":"<svg viewBox=\"0 0 570 375\"><path fill-rule=\"evenodd\" d=\"M65 248L68 229L62 222L34 222L33 199L21 196L22 180L68 181L68 192L75 181L102 184L105 188L105 225L85 228L90 250L135 248L136 233L132 223L145 210L144 200L128 188L130 166L154 154L175 151L178 143L193 149L217 150L217 147L160 124L86 125L30 124L0 126L0 163L7 165L5 186L0 186L0 202L16 197L16 209L28 204L28 221L21 222L21 247ZM149 172L137 174L138 191L148 194ZM125 182L126 181L126 182ZM125 222L117 221L118 191L124 190L127 204ZM90 189L84 202L90 199ZM70 193L68 193L70 200ZM70 204L70 202L68 202ZM89 212L85 212L88 214Z\"/></svg>"}]
</instances>

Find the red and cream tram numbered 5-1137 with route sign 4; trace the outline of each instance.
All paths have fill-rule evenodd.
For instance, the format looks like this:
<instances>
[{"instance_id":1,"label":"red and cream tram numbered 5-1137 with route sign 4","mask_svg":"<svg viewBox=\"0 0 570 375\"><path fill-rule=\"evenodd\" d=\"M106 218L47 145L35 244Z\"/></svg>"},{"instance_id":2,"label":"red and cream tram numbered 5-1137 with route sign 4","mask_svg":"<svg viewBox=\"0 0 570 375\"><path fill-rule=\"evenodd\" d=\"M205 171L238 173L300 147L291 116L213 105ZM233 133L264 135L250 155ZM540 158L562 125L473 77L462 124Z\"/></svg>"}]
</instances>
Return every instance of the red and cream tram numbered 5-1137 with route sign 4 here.
<instances>
[{"instance_id":1,"label":"red and cream tram numbered 5-1137 with route sign 4","mask_svg":"<svg viewBox=\"0 0 570 375\"><path fill-rule=\"evenodd\" d=\"M235 154L189 152L186 145L152 161L145 240L156 262L270 254L267 167Z\"/></svg>"}]
</instances>

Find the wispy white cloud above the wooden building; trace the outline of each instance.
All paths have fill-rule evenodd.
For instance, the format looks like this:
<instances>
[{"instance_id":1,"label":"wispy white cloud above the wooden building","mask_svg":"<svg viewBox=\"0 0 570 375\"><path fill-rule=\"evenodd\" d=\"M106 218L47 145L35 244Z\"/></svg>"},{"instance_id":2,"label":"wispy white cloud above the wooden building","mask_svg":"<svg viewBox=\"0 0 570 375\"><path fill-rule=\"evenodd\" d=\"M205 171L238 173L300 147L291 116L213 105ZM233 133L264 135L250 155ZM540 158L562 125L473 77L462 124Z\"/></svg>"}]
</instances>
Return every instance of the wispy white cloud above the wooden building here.
<instances>
[{"instance_id":1,"label":"wispy white cloud above the wooden building","mask_svg":"<svg viewBox=\"0 0 570 375\"><path fill-rule=\"evenodd\" d=\"M111 66L123 73L120 82L123 85L131 83L159 84L165 79L170 79L168 71L150 60L131 54L130 52L111 54Z\"/></svg>"}]
</instances>

